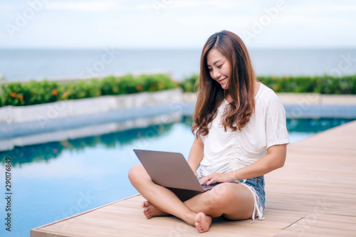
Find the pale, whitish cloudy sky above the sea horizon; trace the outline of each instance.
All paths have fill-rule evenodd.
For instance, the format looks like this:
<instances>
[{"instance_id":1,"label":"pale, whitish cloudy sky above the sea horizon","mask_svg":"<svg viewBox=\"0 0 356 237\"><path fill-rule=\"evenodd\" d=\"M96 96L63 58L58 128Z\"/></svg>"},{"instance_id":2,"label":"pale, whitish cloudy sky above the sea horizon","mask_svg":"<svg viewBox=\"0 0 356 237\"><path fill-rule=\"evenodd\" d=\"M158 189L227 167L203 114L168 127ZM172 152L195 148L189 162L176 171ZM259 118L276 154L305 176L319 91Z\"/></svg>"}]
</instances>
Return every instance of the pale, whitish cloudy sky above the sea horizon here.
<instances>
[{"instance_id":1,"label":"pale, whitish cloudy sky above the sea horizon","mask_svg":"<svg viewBox=\"0 0 356 237\"><path fill-rule=\"evenodd\" d=\"M356 48L356 1L0 0L0 48Z\"/></svg>"}]
</instances>

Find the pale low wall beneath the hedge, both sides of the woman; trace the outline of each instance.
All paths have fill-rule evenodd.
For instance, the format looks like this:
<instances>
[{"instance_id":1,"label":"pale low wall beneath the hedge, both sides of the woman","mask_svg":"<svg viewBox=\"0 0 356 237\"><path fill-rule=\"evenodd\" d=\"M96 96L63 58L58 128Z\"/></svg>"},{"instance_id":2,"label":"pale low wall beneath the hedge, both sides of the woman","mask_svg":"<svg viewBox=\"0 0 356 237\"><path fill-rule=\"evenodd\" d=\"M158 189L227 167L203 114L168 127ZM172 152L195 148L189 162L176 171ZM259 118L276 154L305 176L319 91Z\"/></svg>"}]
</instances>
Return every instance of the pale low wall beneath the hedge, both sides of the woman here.
<instances>
[{"instance_id":1,"label":"pale low wall beneath the hedge, both sides of the woman","mask_svg":"<svg viewBox=\"0 0 356 237\"><path fill-rule=\"evenodd\" d=\"M356 95L321 95L318 93L277 93L283 105L356 105ZM196 93L183 93L182 88L128 95L105 95L98 98L62 100L28 106L0 107L0 125L21 122L45 122L56 118L93 115L114 110L159 105L167 102L194 103Z\"/></svg>"}]
</instances>

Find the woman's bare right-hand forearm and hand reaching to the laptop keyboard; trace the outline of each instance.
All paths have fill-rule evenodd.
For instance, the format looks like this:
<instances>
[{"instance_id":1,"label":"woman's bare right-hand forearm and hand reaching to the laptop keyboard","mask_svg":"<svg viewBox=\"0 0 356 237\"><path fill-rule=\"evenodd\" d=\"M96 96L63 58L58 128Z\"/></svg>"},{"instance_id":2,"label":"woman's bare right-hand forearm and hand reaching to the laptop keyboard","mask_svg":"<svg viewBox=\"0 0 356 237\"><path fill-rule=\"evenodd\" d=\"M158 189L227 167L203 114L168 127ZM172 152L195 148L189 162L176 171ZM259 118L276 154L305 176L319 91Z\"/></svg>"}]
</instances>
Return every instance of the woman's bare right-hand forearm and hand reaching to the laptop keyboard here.
<instances>
[{"instance_id":1,"label":"woman's bare right-hand forearm and hand reaching to the laptop keyboard","mask_svg":"<svg viewBox=\"0 0 356 237\"><path fill-rule=\"evenodd\" d=\"M201 179L200 183L204 184L206 181L209 181L207 184L211 184L214 181L231 182L234 180L250 179L283 167L284 162L286 162L287 144L274 145L269 147L267 152L266 156L247 167L236 169L229 173L209 174Z\"/></svg>"}]
</instances>

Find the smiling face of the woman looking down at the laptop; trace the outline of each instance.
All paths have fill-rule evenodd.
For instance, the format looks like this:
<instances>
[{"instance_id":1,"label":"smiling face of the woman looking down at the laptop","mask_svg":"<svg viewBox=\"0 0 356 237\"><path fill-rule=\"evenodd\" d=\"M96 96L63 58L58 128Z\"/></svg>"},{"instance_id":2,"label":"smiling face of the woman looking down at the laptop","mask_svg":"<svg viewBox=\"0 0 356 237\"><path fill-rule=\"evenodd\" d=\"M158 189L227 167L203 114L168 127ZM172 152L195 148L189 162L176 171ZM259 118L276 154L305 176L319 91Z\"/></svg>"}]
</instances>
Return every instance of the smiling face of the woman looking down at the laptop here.
<instances>
[{"instance_id":1,"label":"smiling face of the woman looking down at the laptop","mask_svg":"<svg viewBox=\"0 0 356 237\"><path fill-rule=\"evenodd\" d=\"M220 53L216 48L211 48L206 55L206 63L211 78L220 83L224 90L228 88L231 75L230 61Z\"/></svg>"}]
</instances>

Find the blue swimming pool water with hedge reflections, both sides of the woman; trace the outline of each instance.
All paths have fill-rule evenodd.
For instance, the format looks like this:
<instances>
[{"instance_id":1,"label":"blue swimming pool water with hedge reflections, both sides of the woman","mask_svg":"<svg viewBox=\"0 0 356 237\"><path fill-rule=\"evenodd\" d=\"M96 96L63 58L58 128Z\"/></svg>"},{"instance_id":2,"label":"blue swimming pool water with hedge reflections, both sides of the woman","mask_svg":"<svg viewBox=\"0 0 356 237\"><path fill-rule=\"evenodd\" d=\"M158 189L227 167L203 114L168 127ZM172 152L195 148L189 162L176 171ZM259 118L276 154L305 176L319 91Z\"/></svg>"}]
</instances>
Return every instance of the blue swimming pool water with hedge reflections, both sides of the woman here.
<instances>
[{"instance_id":1,"label":"blue swimming pool water with hedge reflections, both sides of the woman","mask_svg":"<svg viewBox=\"0 0 356 237\"><path fill-rule=\"evenodd\" d=\"M290 142L297 142L350 119L287 120ZM11 233L5 231L4 198L1 236L30 236L30 229L137 194L127 178L139 163L132 149L181 152L188 157L194 140L192 119L95 137L68 139L0 152L0 185L5 196L6 157L11 158Z\"/></svg>"}]
</instances>

